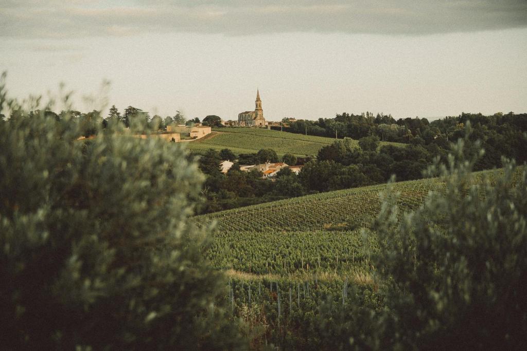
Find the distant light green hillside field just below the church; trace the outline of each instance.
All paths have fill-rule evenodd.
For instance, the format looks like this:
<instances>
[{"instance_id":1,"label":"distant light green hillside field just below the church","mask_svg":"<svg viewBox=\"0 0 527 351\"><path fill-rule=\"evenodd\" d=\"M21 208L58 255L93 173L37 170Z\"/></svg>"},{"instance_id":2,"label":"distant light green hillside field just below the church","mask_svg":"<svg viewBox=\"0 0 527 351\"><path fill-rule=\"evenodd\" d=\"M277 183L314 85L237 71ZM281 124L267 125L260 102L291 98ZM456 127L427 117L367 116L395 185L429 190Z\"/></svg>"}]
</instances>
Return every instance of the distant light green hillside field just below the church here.
<instances>
[{"instance_id":1,"label":"distant light green hillside field just below the church","mask_svg":"<svg viewBox=\"0 0 527 351\"><path fill-rule=\"evenodd\" d=\"M256 153L262 148L271 148L278 155L290 153L296 156L314 156L321 147L330 145L335 141L333 138L306 136L260 128L218 128L214 129L214 132L216 135L190 142L187 147L198 153L209 148L217 150L229 148L237 154ZM358 142L354 141L354 143L358 147Z\"/></svg>"}]
</instances>

